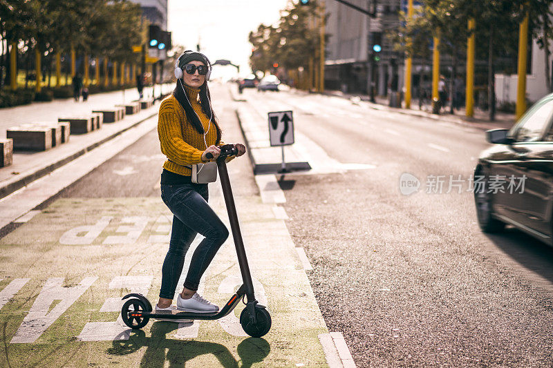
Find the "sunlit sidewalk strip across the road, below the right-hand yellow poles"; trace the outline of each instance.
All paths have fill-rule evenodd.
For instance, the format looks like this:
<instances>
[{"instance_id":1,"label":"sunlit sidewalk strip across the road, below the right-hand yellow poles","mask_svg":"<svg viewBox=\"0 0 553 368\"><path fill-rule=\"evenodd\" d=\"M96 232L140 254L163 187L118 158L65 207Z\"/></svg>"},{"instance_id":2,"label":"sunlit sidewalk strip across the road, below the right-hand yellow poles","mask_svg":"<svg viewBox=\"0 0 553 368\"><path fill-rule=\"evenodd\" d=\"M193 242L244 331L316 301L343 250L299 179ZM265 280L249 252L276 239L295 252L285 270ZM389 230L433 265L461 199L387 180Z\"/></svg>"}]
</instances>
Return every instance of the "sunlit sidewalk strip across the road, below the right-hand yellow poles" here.
<instances>
[{"instance_id":1,"label":"sunlit sidewalk strip across the road, below the right-hand yellow poles","mask_svg":"<svg viewBox=\"0 0 553 368\"><path fill-rule=\"evenodd\" d=\"M296 93L307 93L303 90L294 90ZM368 95L359 95L359 94L353 94L353 93L342 93L338 90L326 90L324 92L325 95L335 96L335 97L342 97L344 99L349 99L354 104L359 101L363 101L364 103L371 106L371 108L374 108L375 110L388 110L388 111L394 111L396 113L405 114L405 115L413 115L418 117L426 117L428 119L435 119L440 120L442 122L451 122L454 124L462 124L467 126L473 126L475 128L480 128L482 130L489 130L489 129L509 129L514 125L514 122L516 121L516 118L514 114L507 114L507 113L496 113L496 121L491 122L489 120L489 114L487 111L480 110L479 108L474 109L474 117L466 117L465 116L465 108L462 108L460 110L456 110L456 113L454 115L449 113L449 107L442 109L442 113L440 115L436 115L431 113L431 107L428 105L423 105L422 110L419 110L418 108L418 100L412 99L411 100L411 108L393 108L388 106L388 99L382 98L382 97L376 97L377 103L374 104L371 102L371 97Z\"/></svg>"}]
</instances>

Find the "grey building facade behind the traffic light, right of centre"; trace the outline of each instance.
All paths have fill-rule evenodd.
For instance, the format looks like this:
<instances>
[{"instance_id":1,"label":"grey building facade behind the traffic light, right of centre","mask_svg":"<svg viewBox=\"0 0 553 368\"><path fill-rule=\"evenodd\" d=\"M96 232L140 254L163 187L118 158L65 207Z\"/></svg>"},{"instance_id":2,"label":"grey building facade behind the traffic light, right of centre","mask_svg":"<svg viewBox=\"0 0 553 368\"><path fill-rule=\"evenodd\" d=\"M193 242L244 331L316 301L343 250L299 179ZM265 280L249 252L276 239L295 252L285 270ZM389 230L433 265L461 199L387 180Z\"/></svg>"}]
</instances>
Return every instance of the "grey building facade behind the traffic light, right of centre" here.
<instances>
[{"instance_id":1,"label":"grey building facade behind the traffic light, right of centre","mask_svg":"<svg viewBox=\"0 0 553 368\"><path fill-rule=\"evenodd\" d=\"M326 32L330 35L325 61L326 88L370 94L372 86L382 96L401 89L404 59L393 50L386 31L399 26L402 0L378 0L376 6L374 1L349 0L359 8L375 10L375 17L337 1L325 1ZM377 55L373 52L375 43L381 47Z\"/></svg>"}]
</instances>

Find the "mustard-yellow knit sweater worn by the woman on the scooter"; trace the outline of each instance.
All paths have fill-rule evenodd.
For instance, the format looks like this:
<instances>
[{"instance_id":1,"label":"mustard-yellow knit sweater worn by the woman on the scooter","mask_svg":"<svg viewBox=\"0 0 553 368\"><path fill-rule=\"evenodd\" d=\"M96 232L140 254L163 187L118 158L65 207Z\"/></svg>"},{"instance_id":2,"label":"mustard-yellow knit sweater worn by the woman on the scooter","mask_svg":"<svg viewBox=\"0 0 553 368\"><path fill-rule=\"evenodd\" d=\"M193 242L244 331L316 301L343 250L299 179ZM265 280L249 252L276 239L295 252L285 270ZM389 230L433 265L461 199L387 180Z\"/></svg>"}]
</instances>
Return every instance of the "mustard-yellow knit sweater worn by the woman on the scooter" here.
<instances>
[{"instance_id":1,"label":"mustard-yellow knit sweater worn by the woman on the scooter","mask_svg":"<svg viewBox=\"0 0 553 368\"><path fill-rule=\"evenodd\" d=\"M217 130L215 124L209 124L209 118L202 111L198 100L199 89L185 86L187 95L196 111L204 130L209 131L205 136L207 146L216 144ZM161 152L167 156L163 168L180 175L190 176L191 169L185 165L199 164L202 162L202 153L207 148L203 140L203 134L188 121L185 110L180 106L174 95L169 95L160 106L158 115L158 136L160 138ZM223 144L220 142L219 144Z\"/></svg>"}]
</instances>

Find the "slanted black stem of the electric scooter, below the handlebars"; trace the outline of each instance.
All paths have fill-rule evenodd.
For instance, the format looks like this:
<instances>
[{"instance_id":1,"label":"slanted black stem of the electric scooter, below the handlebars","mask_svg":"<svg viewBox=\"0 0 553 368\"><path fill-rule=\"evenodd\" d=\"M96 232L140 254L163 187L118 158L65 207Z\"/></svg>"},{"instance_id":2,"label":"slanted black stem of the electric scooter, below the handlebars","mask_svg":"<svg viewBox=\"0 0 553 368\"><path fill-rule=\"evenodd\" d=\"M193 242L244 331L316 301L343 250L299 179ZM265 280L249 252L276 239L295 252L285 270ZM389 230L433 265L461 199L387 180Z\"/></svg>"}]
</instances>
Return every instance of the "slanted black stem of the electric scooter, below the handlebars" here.
<instances>
[{"instance_id":1,"label":"slanted black stem of the electric scooter, below the handlebars","mask_svg":"<svg viewBox=\"0 0 553 368\"><path fill-rule=\"evenodd\" d=\"M236 215L236 206L234 205L234 197L232 196L232 188L230 186L229 173L227 171L227 163L225 158L217 159L217 168L219 177L221 178L221 186L223 187L223 196L227 205L227 213L229 214L230 228L232 229L232 238L234 238L234 246L236 246L236 255L238 255L238 264L242 273L247 301L255 300L254 286L252 283L252 275L250 266L247 264L244 242L242 233L240 232L240 224L238 223L238 215Z\"/></svg>"}]
</instances>

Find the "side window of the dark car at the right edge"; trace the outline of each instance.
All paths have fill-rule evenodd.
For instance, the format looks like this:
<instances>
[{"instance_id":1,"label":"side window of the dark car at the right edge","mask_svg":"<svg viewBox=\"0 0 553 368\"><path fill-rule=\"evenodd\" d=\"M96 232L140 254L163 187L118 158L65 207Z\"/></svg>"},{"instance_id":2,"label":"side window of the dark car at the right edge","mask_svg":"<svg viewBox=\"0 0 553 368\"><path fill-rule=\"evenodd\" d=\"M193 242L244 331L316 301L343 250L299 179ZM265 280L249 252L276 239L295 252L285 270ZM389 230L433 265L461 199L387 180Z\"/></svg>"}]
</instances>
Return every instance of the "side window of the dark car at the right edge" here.
<instances>
[{"instance_id":1,"label":"side window of the dark car at the right edge","mask_svg":"<svg viewBox=\"0 0 553 368\"><path fill-rule=\"evenodd\" d=\"M538 142L551 122L553 100L534 106L524 115L514 131L516 142Z\"/></svg>"}]
</instances>

